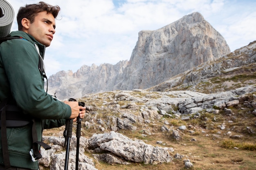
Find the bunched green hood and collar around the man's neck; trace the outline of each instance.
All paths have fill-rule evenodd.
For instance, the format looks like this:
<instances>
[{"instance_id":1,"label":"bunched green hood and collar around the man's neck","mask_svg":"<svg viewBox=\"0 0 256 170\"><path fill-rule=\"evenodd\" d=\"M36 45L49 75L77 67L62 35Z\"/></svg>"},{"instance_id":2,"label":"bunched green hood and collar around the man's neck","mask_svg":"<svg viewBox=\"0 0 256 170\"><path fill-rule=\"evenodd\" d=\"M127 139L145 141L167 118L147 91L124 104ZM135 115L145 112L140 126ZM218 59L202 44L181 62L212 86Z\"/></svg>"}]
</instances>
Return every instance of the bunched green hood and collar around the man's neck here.
<instances>
[{"instance_id":1,"label":"bunched green hood and collar around the man's neck","mask_svg":"<svg viewBox=\"0 0 256 170\"><path fill-rule=\"evenodd\" d=\"M24 31L13 31L10 33L9 35L10 37L22 37L25 40L28 40L29 42L31 42L32 44L36 44L39 48L40 51L40 55L42 56L42 58L44 58L44 53L45 53L45 45L41 44L40 42L38 42L32 35L25 33Z\"/></svg>"}]
</instances>

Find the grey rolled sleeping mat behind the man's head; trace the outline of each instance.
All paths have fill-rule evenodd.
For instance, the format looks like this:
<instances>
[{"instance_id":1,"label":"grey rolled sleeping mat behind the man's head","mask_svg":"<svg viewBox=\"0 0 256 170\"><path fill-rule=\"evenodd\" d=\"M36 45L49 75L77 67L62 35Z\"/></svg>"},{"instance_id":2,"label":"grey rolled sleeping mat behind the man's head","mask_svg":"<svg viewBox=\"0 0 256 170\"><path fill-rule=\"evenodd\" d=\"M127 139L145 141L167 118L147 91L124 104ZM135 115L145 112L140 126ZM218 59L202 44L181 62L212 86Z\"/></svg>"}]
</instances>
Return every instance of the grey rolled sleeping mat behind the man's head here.
<instances>
[{"instance_id":1,"label":"grey rolled sleeping mat behind the man's head","mask_svg":"<svg viewBox=\"0 0 256 170\"><path fill-rule=\"evenodd\" d=\"M6 37L11 31L14 10L6 0L0 0L0 38Z\"/></svg>"}]
</instances>

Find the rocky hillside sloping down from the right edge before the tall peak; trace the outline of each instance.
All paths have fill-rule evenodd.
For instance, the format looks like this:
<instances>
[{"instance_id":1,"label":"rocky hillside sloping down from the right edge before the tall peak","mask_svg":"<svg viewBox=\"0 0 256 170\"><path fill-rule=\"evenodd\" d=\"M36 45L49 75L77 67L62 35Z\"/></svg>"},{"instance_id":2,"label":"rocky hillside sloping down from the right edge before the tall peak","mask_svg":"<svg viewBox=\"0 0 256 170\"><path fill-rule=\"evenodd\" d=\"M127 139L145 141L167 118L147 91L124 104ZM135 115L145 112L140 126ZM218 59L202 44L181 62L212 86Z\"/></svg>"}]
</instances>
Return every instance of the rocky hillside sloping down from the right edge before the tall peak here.
<instances>
[{"instance_id":1,"label":"rocky hillside sloping down from the right edge before the tall peak","mask_svg":"<svg viewBox=\"0 0 256 170\"><path fill-rule=\"evenodd\" d=\"M186 86L195 86L200 82L207 82L209 78L216 76L231 77L236 74L249 75L256 71L256 41L241 47L228 55L224 55L218 60L200 64L196 68L171 77L165 82L151 87L150 91L166 91L170 88L179 87L177 90ZM250 68L247 70L247 68ZM209 86L208 92L211 93ZM225 84L223 84L225 87ZM190 90L194 90L191 88Z\"/></svg>"}]
</instances>

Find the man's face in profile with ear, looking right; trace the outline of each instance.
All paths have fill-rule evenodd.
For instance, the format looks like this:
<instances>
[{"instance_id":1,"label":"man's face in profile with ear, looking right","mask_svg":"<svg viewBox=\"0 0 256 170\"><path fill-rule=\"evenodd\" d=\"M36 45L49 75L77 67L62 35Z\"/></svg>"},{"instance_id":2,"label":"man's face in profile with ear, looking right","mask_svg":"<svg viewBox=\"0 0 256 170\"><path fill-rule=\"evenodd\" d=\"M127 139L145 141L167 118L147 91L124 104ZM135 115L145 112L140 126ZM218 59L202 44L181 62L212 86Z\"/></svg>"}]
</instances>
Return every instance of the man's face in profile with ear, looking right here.
<instances>
[{"instance_id":1,"label":"man's face in profile with ear, looking right","mask_svg":"<svg viewBox=\"0 0 256 170\"><path fill-rule=\"evenodd\" d=\"M50 46L55 33L55 18L46 11L35 16L34 22L29 22L25 32L32 35L38 42L45 46Z\"/></svg>"}]
</instances>

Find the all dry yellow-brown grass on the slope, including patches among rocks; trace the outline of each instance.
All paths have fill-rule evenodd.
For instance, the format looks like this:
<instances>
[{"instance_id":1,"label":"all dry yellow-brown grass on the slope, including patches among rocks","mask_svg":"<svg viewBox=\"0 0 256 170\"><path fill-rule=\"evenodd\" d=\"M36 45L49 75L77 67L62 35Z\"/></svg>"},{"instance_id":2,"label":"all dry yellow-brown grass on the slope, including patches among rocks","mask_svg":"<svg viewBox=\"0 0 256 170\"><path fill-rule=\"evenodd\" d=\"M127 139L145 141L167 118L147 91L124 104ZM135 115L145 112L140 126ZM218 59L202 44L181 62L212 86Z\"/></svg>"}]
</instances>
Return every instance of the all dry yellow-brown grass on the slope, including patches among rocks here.
<instances>
[{"instance_id":1,"label":"all dry yellow-brown grass on the slope, including patches among rocks","mask_svg":"<svg viewBox=\"0 0 256 170\"><path fill-rule=\"evenodd\" d=\"M103 93L101 95L102 100L110 101L109 98L111 97L109 96L113 96L113 93ZM141 93L137 94L137 96L142 95ZM245 101L253 100L254 95L255 94L244 97ZM86 105L91 104L91 106L97 107L98 110L97 114L90 112L87 117L83 119L81 129L83 137L90 138L94 133L103 133L97 124L97 119L104 121L108 119L108 116L115 115L120 117L121 114L117 111L107 109L107 106L101 107L103 103L102 100L87 98L86 101L84 101ZM119 102L119 104L126 105L129 104L129 102ZM185 170L183 159L190 159L191 163L193 163L193 168L190 170L256 170L256 116L252 114L253 108L247 108L245 105L240 104L230 109L233 111L232 115L226 115L223 110L221 110L219 114L202 111L200 118L190 119L188 121L164 116L162 119L151 120L150 124L133 124L133 126L137 127L137 130L117 131L130 139L141 139L146 144L152 146L173 148L175 151L170 153L173 157L171 163L158 165L146 165L144 163L109 165L104 162L96 161L89 152L86 152L85 155L94 160L98 170ZM139 114L139 109L126 110L126 108L124 108L122 110L132 112L134 115ZM84 122L90 121L94 117L97 117L94 119L95 124L91 124L90 128L85 127ZM182 125L188 128L180 132L182 136L181 141L175 141L172 138L172 131L161 131L164 121L168 121L170 124L166 126L173 130L178 129ZM229 123L229 121L233 122ZM219 126L223 123L225 123L226 128L225 130L220 130ZM44 135L61 136L63 135L64 128L65 127L45 130ZM75 132L75 128L73 128L73 130ZM147 130L149 130L152 135L148 135L146 133ZM193 130L194 133L190 133L189 130ZM110 130L106 128L104 132L108 131ZM231 136L228 135L229 131L231 132L231 136L243 136L238 139L231 138ZM196 139L196 141L192 141L192 138ZM162 144L157 145L157 141L162 141ZM175 159L174 155L176 153L184 155L184 158Z\"/></svg>"}]
</instances>

